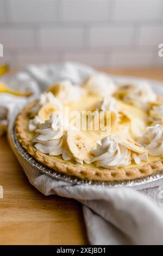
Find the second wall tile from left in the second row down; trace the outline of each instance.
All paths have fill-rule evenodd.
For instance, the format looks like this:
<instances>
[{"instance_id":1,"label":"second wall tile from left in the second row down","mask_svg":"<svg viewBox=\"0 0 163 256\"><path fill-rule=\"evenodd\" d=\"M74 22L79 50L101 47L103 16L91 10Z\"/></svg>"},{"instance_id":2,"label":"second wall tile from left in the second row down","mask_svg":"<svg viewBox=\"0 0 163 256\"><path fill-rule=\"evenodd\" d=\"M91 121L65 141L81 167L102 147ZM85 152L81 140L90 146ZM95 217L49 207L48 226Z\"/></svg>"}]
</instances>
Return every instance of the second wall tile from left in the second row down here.
<instances>
[{"instance_id":1,"label":"second wall tile from left in the second row down","mask_svg":"<svg viewBox=\"0 0 163 256\"><path fill-rule=\"evenodd\" d=\"M41 28L40 44L42 47L82 47L84 31L83 28L70 27Z\"/></svg>"}]
</instances>

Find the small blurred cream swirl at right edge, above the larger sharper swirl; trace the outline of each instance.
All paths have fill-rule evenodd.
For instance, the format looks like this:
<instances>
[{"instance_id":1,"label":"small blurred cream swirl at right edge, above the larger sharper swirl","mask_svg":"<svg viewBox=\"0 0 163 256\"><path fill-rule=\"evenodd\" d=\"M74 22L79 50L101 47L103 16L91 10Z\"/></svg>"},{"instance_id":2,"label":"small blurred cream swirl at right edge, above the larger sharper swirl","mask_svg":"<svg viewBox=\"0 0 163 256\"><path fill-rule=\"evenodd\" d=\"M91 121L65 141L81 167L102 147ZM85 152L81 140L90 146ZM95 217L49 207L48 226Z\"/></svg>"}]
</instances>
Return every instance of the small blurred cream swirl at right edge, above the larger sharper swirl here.
<instances>
[{"instance_id":1,"label":"small blurred cream swirl at right edge, above the larger sharper swirl","mask_svg":"<svg viewBox=\"0 0 163 256\"><path fill-rule=\"evenodd\" d=\"M149 111L149 120L152 122L152 125L163 124L163 105L153 106Z\"/></svg>"}]
</instances>

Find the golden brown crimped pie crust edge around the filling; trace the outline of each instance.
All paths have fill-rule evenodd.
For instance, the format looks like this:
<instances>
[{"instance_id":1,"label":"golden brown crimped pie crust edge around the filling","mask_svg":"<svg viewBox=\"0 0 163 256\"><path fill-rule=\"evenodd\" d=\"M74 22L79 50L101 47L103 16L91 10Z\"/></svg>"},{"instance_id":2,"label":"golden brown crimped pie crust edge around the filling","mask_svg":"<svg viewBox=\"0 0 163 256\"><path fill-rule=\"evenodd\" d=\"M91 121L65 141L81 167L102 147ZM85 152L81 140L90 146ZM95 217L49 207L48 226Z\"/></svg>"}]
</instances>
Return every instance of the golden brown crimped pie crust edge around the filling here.
<instances>
[{"instance_id":1,"label":"golden brown crimped pie crust edge around the filling","mask_svg":"<svg viewBox=\"0 0 163 256\"><path fill-rule=\"evenodd\" d=\"M137 166L131 168L116 168L116 169L98 169L87 168L85 166L77 166L64 160L59 160L55 157L43 154L41 151L33 147L29 138L28 132L28 113L35 105L36 101L28 103L26 107L17 115L15 121L15 130L18 141L21 146L26 149L28 154L33 156L37 161L54 169L60 173L71 176L76 176L79 179L94 180L94 181L118 181L131 180L148 176L163 170L163 159L159 161L145 164L145 166Z\"/></svg>"}]
</instances>

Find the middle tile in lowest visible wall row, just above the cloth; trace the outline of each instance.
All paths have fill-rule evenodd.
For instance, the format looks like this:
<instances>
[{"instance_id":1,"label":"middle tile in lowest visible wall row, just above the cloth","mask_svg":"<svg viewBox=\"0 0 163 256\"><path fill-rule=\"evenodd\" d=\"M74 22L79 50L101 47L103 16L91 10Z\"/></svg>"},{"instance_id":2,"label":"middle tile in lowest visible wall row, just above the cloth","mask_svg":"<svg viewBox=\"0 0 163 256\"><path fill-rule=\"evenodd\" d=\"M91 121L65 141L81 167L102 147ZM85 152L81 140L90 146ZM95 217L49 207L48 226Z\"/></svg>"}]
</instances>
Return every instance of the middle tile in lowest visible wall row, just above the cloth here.
<instances>
[{"instance_id":1,"label":"middle tile in lowest visible wall row, just above the cloth","mask_svg":"<svg viewBox=\"0 0 163 256\"><path fill-rule=\"evenodd\" d=\"M68 52L64 56L64 60L71 60L73 62L85 63L87 65L98 66L103 68L105 66L105 54L104 53L90 53L90 52Z\"/></svg>"}]
</instances>

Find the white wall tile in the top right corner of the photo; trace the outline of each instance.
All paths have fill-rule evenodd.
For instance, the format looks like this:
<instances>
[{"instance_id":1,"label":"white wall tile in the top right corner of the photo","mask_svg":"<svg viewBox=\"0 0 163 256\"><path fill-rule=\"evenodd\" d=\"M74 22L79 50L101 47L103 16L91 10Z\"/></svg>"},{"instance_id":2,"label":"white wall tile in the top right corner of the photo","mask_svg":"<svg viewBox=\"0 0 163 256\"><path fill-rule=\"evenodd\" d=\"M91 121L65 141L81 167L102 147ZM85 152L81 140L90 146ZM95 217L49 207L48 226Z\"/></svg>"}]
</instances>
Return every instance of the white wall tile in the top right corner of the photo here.
<instances>
[{"instance_id":1,"label":"white wall tile in the top right corner of the photo","mask_svg":"<svg viewBox=\"0 0 163 256\"><path fill-rule=\"evenodd\" d=\"M154 21L161 19L160 0L116 0L113 19L116 21Z\"/></svg>"}]
</instances>

